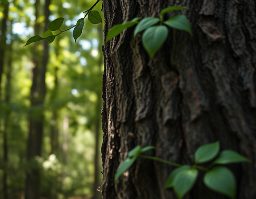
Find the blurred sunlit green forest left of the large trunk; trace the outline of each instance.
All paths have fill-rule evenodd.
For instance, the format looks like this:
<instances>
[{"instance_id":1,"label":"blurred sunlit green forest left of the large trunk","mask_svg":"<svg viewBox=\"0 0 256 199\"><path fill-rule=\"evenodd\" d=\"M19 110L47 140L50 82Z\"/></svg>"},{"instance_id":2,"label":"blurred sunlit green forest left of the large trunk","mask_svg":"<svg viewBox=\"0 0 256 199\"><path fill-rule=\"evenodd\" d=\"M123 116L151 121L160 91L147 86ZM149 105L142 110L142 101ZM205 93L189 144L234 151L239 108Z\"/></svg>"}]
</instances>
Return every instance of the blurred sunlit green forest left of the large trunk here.
<instances>
[{"instance_id":1,"label":"blurred sunlit green forest left of the large trunk","mask_svg":"<svg viewBox=\"0 0 256 199\"><path fill-rule=\"evenodd\" d=\"M36 31L40 35L44 32L48 24L46 4L50 4L49 20L64 17L64 27L70 28L93 3L0 3L0 199L23 199L26 173L35 167L42 174L41 198L100 198L96 187L101 181L103 23L93 25L85 20L83 34L76 43L70 30L49 45L38 42L23 47ZM100 5L95 9L100 12ZM37 76L36 63L46 65ZM42 73L46 86L43 103L33 103L41 95L40 86L39 91L33 90L33 81L40 82ZM42 125L36 125L43 132L41 141L28 139L32 119L38 115L43 115ZM40 142L40 155L31 162L28 153Z\"/></svg>"}]
</instances>

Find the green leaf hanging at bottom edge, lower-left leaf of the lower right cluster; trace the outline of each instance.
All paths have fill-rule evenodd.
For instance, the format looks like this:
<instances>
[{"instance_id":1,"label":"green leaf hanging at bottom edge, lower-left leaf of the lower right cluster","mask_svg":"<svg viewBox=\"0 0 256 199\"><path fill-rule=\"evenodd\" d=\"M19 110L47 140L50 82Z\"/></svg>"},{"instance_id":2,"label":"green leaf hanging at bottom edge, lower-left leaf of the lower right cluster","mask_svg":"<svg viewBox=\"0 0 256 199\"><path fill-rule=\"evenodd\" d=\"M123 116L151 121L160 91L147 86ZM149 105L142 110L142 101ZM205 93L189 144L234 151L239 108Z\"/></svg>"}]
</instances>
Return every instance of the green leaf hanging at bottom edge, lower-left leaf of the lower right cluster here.
<instances>
[{"instance_id":1,"label":"green leaf hanging at bottom edge, lower-left leaf of the lower right cluster","mask_svg":"<svg viewBox=\"0 0 256 199\"><path fill-rule=\"evenodd\" d=\"M198 171L195 168L184 169L180 171L173 180L173 190L178 199L192 189L196 182Z\"/></svg>"}]
</instances>

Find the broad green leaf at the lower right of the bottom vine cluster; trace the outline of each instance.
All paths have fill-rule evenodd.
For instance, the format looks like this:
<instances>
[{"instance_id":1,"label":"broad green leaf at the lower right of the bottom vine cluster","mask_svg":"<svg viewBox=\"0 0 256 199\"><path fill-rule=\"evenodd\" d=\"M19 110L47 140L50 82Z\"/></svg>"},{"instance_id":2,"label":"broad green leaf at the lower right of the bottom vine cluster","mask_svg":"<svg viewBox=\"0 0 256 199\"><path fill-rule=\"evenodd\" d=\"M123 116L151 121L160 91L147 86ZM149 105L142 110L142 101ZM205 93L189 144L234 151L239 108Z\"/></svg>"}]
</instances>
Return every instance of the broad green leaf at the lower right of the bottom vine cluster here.
<instances>
[{"instance_id":1,"label":"broad green leaf at the lower right of the bottom vine cluster","mask_svg":"<svg viewBox=\"0 0 256 199\"><path fill-rule=\"evenodd\" d=\"M226 167L214 167L204 175L204 184L210 189L234 199L236 179Z\"/></svg>"}]
</instances>

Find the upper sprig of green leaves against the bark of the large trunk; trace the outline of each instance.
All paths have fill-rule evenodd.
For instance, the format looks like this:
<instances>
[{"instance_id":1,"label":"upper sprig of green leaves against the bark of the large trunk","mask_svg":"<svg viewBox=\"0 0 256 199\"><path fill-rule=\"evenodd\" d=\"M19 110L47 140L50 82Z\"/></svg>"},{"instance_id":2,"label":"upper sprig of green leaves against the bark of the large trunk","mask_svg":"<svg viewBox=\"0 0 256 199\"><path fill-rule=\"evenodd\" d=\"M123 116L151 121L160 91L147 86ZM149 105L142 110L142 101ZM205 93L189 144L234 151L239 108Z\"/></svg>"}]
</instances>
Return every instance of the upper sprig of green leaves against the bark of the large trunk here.
<instances>
[{"instance_id":1,"label":"upper sprig of green leaves against the bark of the large trunk","mask_svg":"<svg viewBox=\"0 0 256 199\"><path fill-rule=\"evenodd\" d=\"M132 21L126 21L123 24L114 25L108 32L106 42L113 37L119 35L126 28L132 27L133 25L137 24L133 35L136 36L138 33L144 31L142 34L142 44L144 46L144 49L148 52L150 58L152 58L167 39L168 28L165 25L171 28L175 28L177 30L186 31L192 36L191 27L186 16L176 15L164 21L164 14L166 12L184 9L187 8L181 6L172 6L161 10L160 18L146 17L142 19L139 23L138 21L140 19L135 18Z\"/></svg>"}]
</instances>

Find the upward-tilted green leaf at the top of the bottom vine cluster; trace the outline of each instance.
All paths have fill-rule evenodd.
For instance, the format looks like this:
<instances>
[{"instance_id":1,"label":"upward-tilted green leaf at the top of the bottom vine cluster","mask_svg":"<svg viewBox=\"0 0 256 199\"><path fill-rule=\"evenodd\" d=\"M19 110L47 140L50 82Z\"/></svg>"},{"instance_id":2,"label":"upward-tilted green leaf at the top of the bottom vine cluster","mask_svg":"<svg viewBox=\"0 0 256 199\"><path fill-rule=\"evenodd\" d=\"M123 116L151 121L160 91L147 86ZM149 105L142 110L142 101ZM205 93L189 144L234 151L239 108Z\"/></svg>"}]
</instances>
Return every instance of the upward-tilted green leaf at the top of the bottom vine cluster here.
<instances>
[{"instance_id":1,"label":"upward-tilted green leaf at the top of the bottom vine cluster","mask_svg":"<svg viewBox=\"0 0 256 199\"><path fill-rule=\"evenodd\" d=\"M220 150L220 143L209 143L199 147L195 153L196 163L204 163L216 157Z\"/></svg>"}]
</instances>

